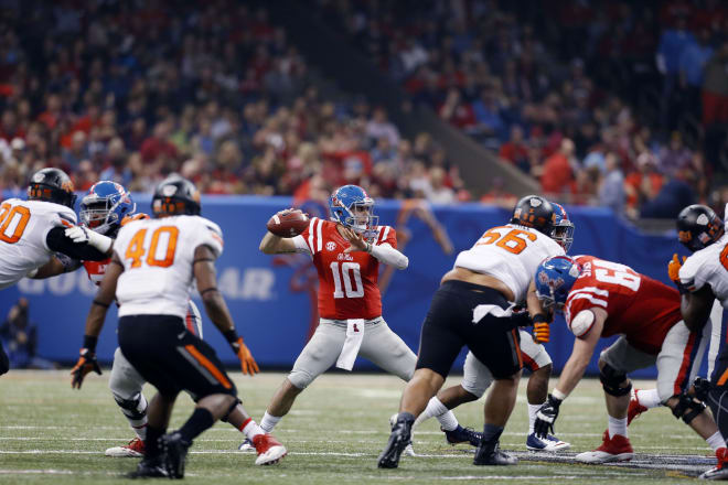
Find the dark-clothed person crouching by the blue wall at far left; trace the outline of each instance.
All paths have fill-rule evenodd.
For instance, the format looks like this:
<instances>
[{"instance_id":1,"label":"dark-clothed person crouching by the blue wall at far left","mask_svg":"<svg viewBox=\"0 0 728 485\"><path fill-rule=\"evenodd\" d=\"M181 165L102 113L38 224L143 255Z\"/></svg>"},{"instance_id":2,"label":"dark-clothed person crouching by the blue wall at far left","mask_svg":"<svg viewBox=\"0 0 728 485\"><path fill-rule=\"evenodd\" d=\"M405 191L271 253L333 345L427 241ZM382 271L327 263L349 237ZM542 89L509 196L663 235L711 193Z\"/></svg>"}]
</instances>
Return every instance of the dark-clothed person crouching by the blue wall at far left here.
<instances>
[{"instance_id":1,"label":"dark-clothed person crouching by the blue wall at far left","mask_svg":"<svg viewBox=\"0 0 728 485\"><path fill-rule=\"evenodd\" d=\"M29 319L28 300L21 298L10 308L0 326L0 338L13 369L52 369L56 365L36 354L38 327Z\"/></svg>"}]
</instances>

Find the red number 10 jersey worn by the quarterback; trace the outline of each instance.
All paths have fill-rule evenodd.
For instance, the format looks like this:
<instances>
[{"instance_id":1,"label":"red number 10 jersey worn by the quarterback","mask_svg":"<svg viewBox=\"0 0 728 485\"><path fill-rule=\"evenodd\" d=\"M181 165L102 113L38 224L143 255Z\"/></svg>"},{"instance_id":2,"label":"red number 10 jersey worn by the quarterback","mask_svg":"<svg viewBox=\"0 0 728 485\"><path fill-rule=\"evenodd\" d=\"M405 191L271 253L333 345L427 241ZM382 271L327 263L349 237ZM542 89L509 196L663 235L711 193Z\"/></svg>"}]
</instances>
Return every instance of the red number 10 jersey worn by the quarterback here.
<instances>
[{"instance_id":1,"label":"red number 10 jersey worn by the quarterback","mask_svg":"<svg viewBox=\"0 0 728 485\"><path fill-rule=\"evenodd\" d=\"M397 236L389 226L376 227L372 244L397 247ZM323 319L375 319L382 316L382 295L377 280L379 261L364 251L344 254L350 244L336 229L336 223L318 217L299 236L306 241L319 272L319 315Z\"/></svg>"}]
</instances>

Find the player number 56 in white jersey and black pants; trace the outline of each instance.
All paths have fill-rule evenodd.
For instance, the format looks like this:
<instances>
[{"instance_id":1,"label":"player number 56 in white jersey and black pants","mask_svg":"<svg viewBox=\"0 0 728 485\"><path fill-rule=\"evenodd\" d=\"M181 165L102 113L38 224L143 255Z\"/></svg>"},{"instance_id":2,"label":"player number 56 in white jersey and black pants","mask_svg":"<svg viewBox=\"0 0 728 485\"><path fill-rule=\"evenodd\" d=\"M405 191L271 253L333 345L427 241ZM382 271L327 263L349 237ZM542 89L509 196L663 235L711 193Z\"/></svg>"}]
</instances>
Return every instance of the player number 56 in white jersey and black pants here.
<instances>
[{"instance_id":1,"label":"player number 56 in white jersey and black pants","mask_svg":"<svg viewBox=\"0 0 728 485\"><path fill-rule=\"evenodd\" d=\"M553 225L552 204L529 195L516 203L510 224L488 230L471 249L458 255L422 323L417 370L403 394L399 414L379 455L381 468L399 465L415 418L440 389L463 345L495 379L485 399L485 424L473 464L517 462L499 450L523 366L516 327L526 323L512 315L514 304L510 302L525 300L533 273L544 258L564 255L549 237ZM540 319L545 316L540 314L537 320L543 323Z\"/></svg>"}]
</instances>

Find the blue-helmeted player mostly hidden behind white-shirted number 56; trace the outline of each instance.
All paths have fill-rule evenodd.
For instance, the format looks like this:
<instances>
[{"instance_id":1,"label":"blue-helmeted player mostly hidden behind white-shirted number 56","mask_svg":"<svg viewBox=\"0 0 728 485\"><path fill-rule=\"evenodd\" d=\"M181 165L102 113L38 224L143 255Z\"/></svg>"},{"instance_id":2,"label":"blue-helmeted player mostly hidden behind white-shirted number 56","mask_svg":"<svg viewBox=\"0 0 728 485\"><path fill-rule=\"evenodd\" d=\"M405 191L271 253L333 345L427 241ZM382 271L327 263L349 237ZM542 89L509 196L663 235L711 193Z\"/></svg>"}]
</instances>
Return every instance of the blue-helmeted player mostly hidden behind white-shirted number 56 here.
<instances>
[{"instance_id":1,"label":"blue-helmeted player mostly hidden behind white-shirted number 56","mask_svg":"<svg viewBox=\"0 0 728 485\"><path fill-rule=\"evenodd\" d=\"M555 202L554 206L554 229L550 237L568 252L574 242L574 223L569 219L566 209ZM552 375L552 357L540 342L548 342L548 324L534 327L535 340L524 328L518 328L518 338L521 353L523 355L523 365L531 370L528 377L528 387L526 388L526 398L528 403L528 433L526 435L526 449L529 451L558 452L567 450L570 443L564 442L558 438L546 434L539 436L534 431L536 423L536 413L548 395L548 379ZM458 386L441 390L432 397L427 403L427 408L415 420L415 427L429 418L437 418L440 421L441 430L445 432L446 440L450 444L457 444L469 441L471 445L480 444L481 433L473 432L469 428L462 428L454 418L452 410L456 407L480 399L485 390L493 382L491 371L484 366L478 357L469 352L463 366L462 382ZM396 416L396 414L395 414ZM394 423L393 423L394 424Z\"/></svg>"}]
</instances>

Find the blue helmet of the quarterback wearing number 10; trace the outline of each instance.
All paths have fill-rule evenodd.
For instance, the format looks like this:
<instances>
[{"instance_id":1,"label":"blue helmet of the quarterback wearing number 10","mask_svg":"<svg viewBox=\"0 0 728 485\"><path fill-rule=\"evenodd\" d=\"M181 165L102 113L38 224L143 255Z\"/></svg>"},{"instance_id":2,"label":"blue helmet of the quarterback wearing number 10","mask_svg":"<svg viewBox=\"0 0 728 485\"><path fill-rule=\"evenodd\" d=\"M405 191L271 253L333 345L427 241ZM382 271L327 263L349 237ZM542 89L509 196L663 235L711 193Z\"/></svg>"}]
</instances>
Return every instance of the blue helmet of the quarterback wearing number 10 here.
<instances>
[{"instance_id":1,"label":"blue helmet of the quarterback wearing number 10","mask_svg":"<svg viewBox=\"0 0 728 485\"><path fill-rule=\"evenodd\" d=\"M365 239L375 237L379 217L374 215L374 200L357 185L344 185L329 201L331 219L361 234Z\"/></svg>"}]
</instances>

